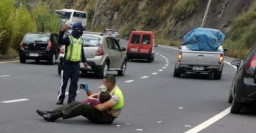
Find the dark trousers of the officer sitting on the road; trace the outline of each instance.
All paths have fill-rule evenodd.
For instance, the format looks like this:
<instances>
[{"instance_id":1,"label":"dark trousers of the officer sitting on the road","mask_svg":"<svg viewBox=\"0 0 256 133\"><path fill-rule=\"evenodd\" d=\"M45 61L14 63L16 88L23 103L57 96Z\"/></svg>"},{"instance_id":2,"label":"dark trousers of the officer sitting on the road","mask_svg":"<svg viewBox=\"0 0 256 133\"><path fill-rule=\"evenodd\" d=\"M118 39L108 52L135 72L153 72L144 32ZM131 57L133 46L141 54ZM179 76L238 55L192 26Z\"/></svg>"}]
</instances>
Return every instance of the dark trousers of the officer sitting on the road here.
<instances>
[{"instance_id":1,"label":"dark trousers of the officer sitting on the road","mask_svg":"<svg viewBox=\"0 0 256 133\"><path fill-rule=\"evenodd\" d=\"M54 112L61 112L63 119L69 119L83 115L83 117L89 119L92 122L109 124L112 123L115 118L108 114L102 114L99 110L95 109L91 104L83 102L72 102L70 104L58 107L53 110Z\"/></svg>"}]
</instances>

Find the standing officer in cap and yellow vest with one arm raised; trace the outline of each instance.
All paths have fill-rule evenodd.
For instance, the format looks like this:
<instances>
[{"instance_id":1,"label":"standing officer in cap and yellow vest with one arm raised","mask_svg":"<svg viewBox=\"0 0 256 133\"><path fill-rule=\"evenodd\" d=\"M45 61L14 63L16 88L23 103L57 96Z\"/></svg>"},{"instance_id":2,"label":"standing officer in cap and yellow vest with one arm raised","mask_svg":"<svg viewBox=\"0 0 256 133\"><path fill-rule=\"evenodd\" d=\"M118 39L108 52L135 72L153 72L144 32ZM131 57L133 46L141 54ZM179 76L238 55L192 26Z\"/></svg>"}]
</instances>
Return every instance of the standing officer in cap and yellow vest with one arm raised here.
<instances>
[{"instance_id":1,"label":"standing officer in cap and yellow vest with one arm raised","mask_svg":"<svg viewBox=\"0 0 256 133\"><path fill-rule=\"evenodd\" d=\"M63 104L65 98L65 90L67 87L68 79L70 78L70 86L68 91L68 103L75 101L77 82L80 73L80 62L84 63L84 67L87 68L86 58L83 51L83 30L81 22L74 23L72 26L71 35L63 38L68 26L63 25L59 32L58 43L65 45L65 56L63 58L62 70L61 70L61 83L58 93L57 104Z\"/></svg>"}]
</instances>

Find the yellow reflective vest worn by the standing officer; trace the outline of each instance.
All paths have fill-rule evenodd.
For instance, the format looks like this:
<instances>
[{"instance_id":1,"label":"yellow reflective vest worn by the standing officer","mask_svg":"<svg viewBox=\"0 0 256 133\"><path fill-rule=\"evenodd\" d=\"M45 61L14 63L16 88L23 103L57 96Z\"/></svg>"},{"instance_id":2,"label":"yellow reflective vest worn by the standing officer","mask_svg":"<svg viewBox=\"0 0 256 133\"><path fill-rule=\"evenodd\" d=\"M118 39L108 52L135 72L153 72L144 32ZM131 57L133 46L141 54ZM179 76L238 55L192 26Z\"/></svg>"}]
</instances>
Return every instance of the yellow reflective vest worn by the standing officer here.
<instances>
[{"instance_id":1,"label":"yellow reflective vest worn by the standing officer","mask_svg":"<svg viewBox=\"0 0 256 133\"><path fill-rule=\"evenodd\" d=\"M67 47L67 61L79 62L82 59L82 37L74 38L73 36L68 36L70 44Z\"/></svg>"}]
</instances>

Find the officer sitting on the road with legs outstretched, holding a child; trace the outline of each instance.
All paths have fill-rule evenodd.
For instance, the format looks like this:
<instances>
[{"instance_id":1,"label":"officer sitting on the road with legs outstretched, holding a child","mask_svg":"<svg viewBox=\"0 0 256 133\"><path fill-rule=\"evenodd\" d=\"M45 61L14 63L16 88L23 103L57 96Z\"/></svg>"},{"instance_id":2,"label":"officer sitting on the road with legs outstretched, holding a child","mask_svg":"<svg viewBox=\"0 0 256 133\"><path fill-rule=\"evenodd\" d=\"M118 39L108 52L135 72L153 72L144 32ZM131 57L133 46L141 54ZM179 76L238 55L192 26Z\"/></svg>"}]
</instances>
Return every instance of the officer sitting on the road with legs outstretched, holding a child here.
<instances>
[{"instance_id":1,"label":"officer sitting on the road with legs outstretched, holding a child","mask_svg":"<svg viewBox=\"0 0 256 133\"><path fill-rule=\"evenodd\" d=\"M103 78L102 83L103 86L106 87L102 89L102 92L108 92L111 95L111 98L107 102L97 105L86 104L84 102L72 102L68 105L58 107L53 111L36 110L36 112L46 121L55 121L61 117L68 119L83 115L92 122L112 123L121 113L124 106L124 97L121 89L116 86L116 78L113 75ZM92 94L89 89L85 90L89 98L99 95Z\"/></svg>"}]
</instances>

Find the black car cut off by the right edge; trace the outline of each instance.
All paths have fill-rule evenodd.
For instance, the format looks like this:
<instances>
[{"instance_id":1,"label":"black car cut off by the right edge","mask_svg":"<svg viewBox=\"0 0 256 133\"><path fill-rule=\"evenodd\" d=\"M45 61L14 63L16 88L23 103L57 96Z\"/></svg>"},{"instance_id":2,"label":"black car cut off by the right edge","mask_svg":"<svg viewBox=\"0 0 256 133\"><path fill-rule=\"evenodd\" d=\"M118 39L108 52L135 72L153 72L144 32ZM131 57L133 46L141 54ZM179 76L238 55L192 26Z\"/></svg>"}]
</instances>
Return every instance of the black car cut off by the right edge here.
<instances>
[{"instance_id":1,"label":"black car cut off by the right edge","mask_svg":"<svg viewBox=\"0 0 256 133\"><path fill-rule=\"evenodd\" d=\"M241 113L245 103L256 102L256 47L242 64L241 60L234 60L231 64L237 66L237 72L228 97L228 102L232 103L230 112Z\"/></svg>"}]
</instances>

